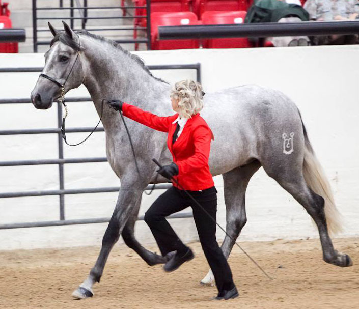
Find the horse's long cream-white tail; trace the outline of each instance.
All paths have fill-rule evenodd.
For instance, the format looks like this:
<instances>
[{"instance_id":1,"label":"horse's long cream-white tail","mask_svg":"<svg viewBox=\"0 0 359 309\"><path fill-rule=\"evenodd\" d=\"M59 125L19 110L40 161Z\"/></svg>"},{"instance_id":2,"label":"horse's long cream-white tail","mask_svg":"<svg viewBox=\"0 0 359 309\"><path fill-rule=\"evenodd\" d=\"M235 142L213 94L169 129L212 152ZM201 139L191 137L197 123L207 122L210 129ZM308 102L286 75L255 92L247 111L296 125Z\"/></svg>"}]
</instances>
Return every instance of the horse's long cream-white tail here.
<instances>
[{"instance_id":1,"label":"horse's long cream-white tail","mask_svg":"<svg viewBox=\"0 0 359 309\"><path fill-rule=\"evenodd\" d=\"M332 188L330 188L330 184L325 176L323 168L310 145L304 125L303 130L306 139L303 176L307 185L325 200L324 211L329 234L337 234L342 231L341 215L334 203Z\"/></svg>"}]
</instances>

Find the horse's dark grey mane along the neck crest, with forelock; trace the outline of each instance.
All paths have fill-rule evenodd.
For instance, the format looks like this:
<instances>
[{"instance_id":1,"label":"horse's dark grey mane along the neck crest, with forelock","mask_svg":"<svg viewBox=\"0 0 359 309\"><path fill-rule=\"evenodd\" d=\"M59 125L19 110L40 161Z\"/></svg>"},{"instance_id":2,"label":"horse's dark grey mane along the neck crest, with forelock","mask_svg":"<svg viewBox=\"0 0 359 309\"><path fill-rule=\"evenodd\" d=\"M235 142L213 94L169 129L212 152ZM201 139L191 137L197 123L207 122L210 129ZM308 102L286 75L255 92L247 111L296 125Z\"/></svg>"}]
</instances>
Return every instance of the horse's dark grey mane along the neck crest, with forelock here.
<instances>
[{"instance_id":1,"label":"horse's dark grey mane along the neck crest, with forelock","mask_svg":"<svg viewBox=\"0 0 359 309\"><path fill-rule=\"evenodd\" d=\"M133 53L130 53L128 50L122 48L122 46L119 43L117 43L113 40L110 40L110 39L106 39L105 37L89 33L87 30L78 30L75 33L83 34L88 37L95 38L98 41L105 42L107 44L110 44L110 45L116 47L117 49L120 49L123 53L128 55L128 57L130 57L135 62L137 62L151 77L153 77L159 81L168 83L168 82L162 80L161 78L153 76L151 71L149 70L149 68L145 65L144 61L139 56L137 56ZM75 40L71 39L71 37L65 31L58 32L57 35L54 36L53 39L51 40L50 46L52 46L55 42L58 42L58 41L70 46L71 48L73 48L74 50L77 50L77 51L82 51L85 49L84 47L80 46L77 42L75 42Z\"/></svg>"}]
</instances>

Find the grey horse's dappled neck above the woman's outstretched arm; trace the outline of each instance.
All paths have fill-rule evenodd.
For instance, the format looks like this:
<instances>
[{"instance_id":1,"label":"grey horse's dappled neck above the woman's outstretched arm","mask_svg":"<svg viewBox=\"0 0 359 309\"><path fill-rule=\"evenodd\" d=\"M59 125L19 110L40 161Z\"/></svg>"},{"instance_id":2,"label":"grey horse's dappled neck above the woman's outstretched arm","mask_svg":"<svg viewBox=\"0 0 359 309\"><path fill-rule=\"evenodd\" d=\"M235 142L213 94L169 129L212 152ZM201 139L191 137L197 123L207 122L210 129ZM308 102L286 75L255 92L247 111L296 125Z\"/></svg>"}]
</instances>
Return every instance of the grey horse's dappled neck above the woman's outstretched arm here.
<instances>
[{"instance_id":1,"label":"grey horse's dappled neck above the woman's outstretched arm","mask_svg":"<svg viewBox=\"0 0 359 309\"><path fill-rule=\"evenodd\" d=\"M111 50L105 52L105 47ZM167 111L164 100L169 98L170 85L150 76L123 51L111 46L97 48L102 50L91 48L86 54L89 68L85 86L99 115L102 114L101 102L104 98L122 100L144 110L161 110L161 105L164 105L163 110ZM111 115L108 107L103 106L102 123L105 127L113 124L113 120L108 119Z\"/></svg>"}]
</instances>

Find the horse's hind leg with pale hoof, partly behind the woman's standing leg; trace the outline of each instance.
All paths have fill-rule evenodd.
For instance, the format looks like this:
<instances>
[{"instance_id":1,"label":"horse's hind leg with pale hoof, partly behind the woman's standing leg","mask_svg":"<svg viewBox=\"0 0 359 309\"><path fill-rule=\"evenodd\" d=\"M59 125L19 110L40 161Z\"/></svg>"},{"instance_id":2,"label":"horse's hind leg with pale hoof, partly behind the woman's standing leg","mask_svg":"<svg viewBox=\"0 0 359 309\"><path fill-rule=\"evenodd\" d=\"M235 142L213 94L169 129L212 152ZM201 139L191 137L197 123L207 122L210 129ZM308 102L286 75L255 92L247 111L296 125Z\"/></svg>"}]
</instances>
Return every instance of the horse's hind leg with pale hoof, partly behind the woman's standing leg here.
<instances>
[{"instance_id":1,"label":"horse's hind leg with pale hoof, partly behind the woman's standing leg","mask_svg":"<svg viewBox=\"0 0 359 309\"><path fill-rule=\"evenodd\" d=\"M236 167L234 170L222 175L227 218L226 232L231 236L231 238L229 238L226 235L221 246L226 258L229 257L236 239L247 222L245 214L245 191L251 177L260 167L261 163L258 160L254 160L251 163ZM213 283L214 276L212 271L209 270L207 275L201 280L201 284L212 285Z\"/></svg>"}]
</instances>

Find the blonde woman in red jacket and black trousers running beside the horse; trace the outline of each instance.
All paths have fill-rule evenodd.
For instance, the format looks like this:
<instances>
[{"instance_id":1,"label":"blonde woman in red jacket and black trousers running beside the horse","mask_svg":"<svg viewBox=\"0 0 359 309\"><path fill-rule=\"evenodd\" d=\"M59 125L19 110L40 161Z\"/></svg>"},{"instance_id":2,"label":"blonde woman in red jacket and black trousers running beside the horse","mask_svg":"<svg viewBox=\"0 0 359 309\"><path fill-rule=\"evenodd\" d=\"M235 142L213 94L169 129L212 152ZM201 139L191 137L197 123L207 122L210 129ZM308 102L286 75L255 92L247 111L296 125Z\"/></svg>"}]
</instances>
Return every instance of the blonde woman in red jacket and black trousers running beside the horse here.
<instances>
[{"instance_id":1,"label":"blonde woman in red jacket and black trousers running beside the horse","mask_svg":"<svg viewBox=\"0 0 359 309\"><path fill-rule=\"evenodd\" d=\"M177 82L171 92L173 116L159 117L122 101L109 102L124 116L155 130L168 132L168 147L173 162L157 172L180 186L200 203L216 219L217 190L209 171L208 158L213 134L199 111L203 107L202 86L192 80ZM214 138L213 138L214 139ZM237 297L238 291L232 279L231 269L215 239L216 224L183 189L173 181L173 186L160 195L145 214L162 256L176 251L163 266L165 271L174 271L184 262L194 258L192 250L178 238L165 217L190 205L202 249L214 274L218 295L214 299Z\"/></svg>"}]
</instances>

